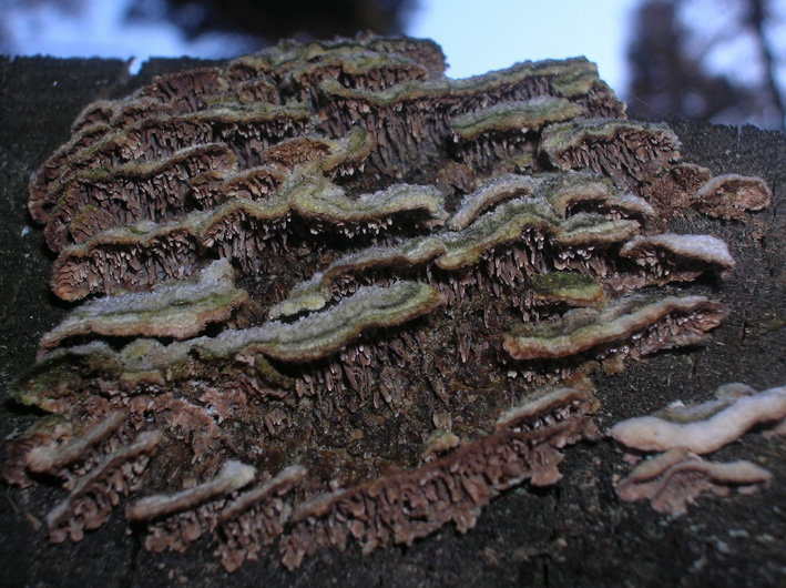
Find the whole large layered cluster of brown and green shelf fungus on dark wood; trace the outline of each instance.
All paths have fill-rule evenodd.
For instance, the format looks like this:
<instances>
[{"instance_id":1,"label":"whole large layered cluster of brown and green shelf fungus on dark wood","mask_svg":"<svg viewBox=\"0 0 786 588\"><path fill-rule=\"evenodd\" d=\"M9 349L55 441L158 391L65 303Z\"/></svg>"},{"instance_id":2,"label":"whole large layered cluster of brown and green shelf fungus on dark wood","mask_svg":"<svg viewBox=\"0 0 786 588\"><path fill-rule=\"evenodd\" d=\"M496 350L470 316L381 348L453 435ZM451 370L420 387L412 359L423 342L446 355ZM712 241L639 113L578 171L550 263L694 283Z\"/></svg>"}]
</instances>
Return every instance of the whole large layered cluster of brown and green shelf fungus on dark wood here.
<instances>
[{"instance_id":1,"label":"whole large layered cluster of brown and green shelf fungus on dark wood","mask_svg":"<svg viewBox=\"0 0 786 588\"><path fill-rule=\"evenodd\" d=\"M74 310L4 468L63 486L52 540L124 513L233 570L465 533L595 438L599 361L723 321L725 243L664 214L743 219L766 186L678 163L583 58L443 70L430 41L289 43L82 112L31 180Z\"/></svg>"}]
</instances>

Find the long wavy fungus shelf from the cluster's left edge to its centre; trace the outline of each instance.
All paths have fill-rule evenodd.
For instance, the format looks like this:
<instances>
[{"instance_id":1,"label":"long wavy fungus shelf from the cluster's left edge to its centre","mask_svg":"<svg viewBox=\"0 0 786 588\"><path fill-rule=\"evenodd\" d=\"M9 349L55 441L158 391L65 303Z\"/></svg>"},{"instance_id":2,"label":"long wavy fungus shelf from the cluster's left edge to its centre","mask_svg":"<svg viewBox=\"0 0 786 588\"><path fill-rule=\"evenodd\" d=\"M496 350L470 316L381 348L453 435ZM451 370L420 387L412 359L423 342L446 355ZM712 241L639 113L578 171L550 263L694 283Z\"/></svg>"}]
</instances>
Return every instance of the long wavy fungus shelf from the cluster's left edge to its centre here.
<instances>
[{"instance_id":1,"label":"long wavy fungus shelf from the cluster's left edge to its centre","mask_svg":"<svg viewBox=\"0 0 786 588\"><path fill-rule=\"evenodd\" d=\"M299 178L284 190L269 201L237 199L180 221L141 221L103 231L61 252L54 263L53 291L73 301L94 292L146 288L159 281L190 276L202 263L201 251L211 249L251 271L264 263L258 253L267 246L286 250L286 237L277 240L273 234L293 213L314 223L312 232L333 226L348 236L376 234L399 215L417 217L420 213L427 226L439 224L445 215L442 196L431 186L394 184L349 199L327 180Z\"/></svg>"}]
</instances>

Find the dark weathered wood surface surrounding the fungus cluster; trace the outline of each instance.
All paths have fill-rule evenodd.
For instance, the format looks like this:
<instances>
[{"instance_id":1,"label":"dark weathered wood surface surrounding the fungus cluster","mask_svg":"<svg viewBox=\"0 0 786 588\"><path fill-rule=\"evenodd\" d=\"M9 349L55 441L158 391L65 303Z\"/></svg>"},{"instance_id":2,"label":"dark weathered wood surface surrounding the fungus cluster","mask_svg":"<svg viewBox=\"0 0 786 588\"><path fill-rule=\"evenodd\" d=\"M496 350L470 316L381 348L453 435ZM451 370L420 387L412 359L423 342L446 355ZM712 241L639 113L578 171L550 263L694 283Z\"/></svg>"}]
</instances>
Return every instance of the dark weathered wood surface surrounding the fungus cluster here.
<instances>
[{"instance_id":1,"label":"dark weathered wood surface surrounding the fungus cluster","mask_svg":"<svg viewBox=\"0 0 786 588\"><path fill-rule=\"evenodd\" d=\"M68 139L89 102L126 95L154 74L194 65L152 61L131 78L120 61L0 60L1 438L39 417L11 404L8 387L33 363L40 336L67 312L49 292L51 257L25 209L30 174ZM758 175L774 201L747 223L674 216L670 230L714 234L729 244L737 266L718 293L733 312L706 347L661 354L613 378L593 376L601 427L676 399L703 401L726 382L756 389L782 385L786 374L786 135L671 125L686 161L714 174ZM206 539L184 554L147 552L143 535L126 534L120 518L79 544L52 545L38 527L54 493L7 487L0 562L10 586L777 586L786 581L786 442L753 434L718 453L723 460L751 456L774 474L772 486L755 496L700 499L687 515L670 519L645 504L620 503L613 481L627 470L620 452L611 440L584 444L566 453L559 485L508 491L468 535L446 527L414 546L367 557L357 546L325 549L294 572L276 550L263 550L232 577Z\"/></svg>"}]
</instances>

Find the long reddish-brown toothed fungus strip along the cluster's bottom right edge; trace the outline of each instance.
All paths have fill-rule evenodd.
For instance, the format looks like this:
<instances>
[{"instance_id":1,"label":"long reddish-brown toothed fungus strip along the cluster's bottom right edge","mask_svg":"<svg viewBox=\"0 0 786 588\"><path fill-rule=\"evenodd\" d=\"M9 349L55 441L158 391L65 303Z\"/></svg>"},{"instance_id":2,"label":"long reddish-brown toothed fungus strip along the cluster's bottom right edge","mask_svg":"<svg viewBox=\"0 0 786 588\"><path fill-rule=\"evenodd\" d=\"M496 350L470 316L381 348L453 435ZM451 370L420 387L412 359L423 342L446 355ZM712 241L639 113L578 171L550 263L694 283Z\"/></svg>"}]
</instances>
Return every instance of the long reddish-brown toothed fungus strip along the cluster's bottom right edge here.
<instances>
[{"instance_id":1,"label":"long reddish-brown toothed fungus strip along the cluster's bottom right edge","mask_svg":"<svg viewBox=\"0 0 786 588\"><path fill-rule=\"evenodd\" d=\"M586 391L547 393L535 406L519 406L496 434L446 457L299 505L292 517L294 529L282 544L284 565L297 567L323 545L344 549L350 535L368 554L390 539L411 545L451 521L467 533L498 491L524 479L537 486L555 484L562 460L557 449L595 435L588 417L594 406Z\"/></svg>"}]
</instances>

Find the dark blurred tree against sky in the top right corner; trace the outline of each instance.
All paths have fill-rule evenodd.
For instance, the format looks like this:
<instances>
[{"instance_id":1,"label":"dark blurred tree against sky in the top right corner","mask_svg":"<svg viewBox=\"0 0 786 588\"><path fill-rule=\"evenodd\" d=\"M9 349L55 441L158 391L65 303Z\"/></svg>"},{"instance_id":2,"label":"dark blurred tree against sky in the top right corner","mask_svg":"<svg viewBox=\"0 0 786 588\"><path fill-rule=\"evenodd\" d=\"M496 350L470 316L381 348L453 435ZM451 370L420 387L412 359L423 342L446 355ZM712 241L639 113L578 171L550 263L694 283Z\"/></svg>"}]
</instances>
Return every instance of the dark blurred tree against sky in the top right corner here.
<instances>
[{"instance_id":1,"label":"dark blurred tree against sky in the top right corner","mask_svg":"<svg viewBox=\"0 0 786 588\"><path fill-rule=\"evenodd\" d=\"M633 116L660 119L674 116L724 124L755 123L784 128L786 105L778 90L778 58L766 31L775 16L768 0L727 0L724 10L739 14L733 22L735 34L713 31L717 21L687 19L696 0L643 0L633 18L633 34L627 49L631 82L629 112ZM737 8L738 10L733 10ZM718 6L705 8L708 17ZM761 83L744 84L738 75L708 71L707 57L722 45L749 34L757 49L757 62L736 65L738 70L759 64ZM705 39L696 50L696 38ZM754 58L756 59L756 58Z\"/></svg>"}]
</instances>

